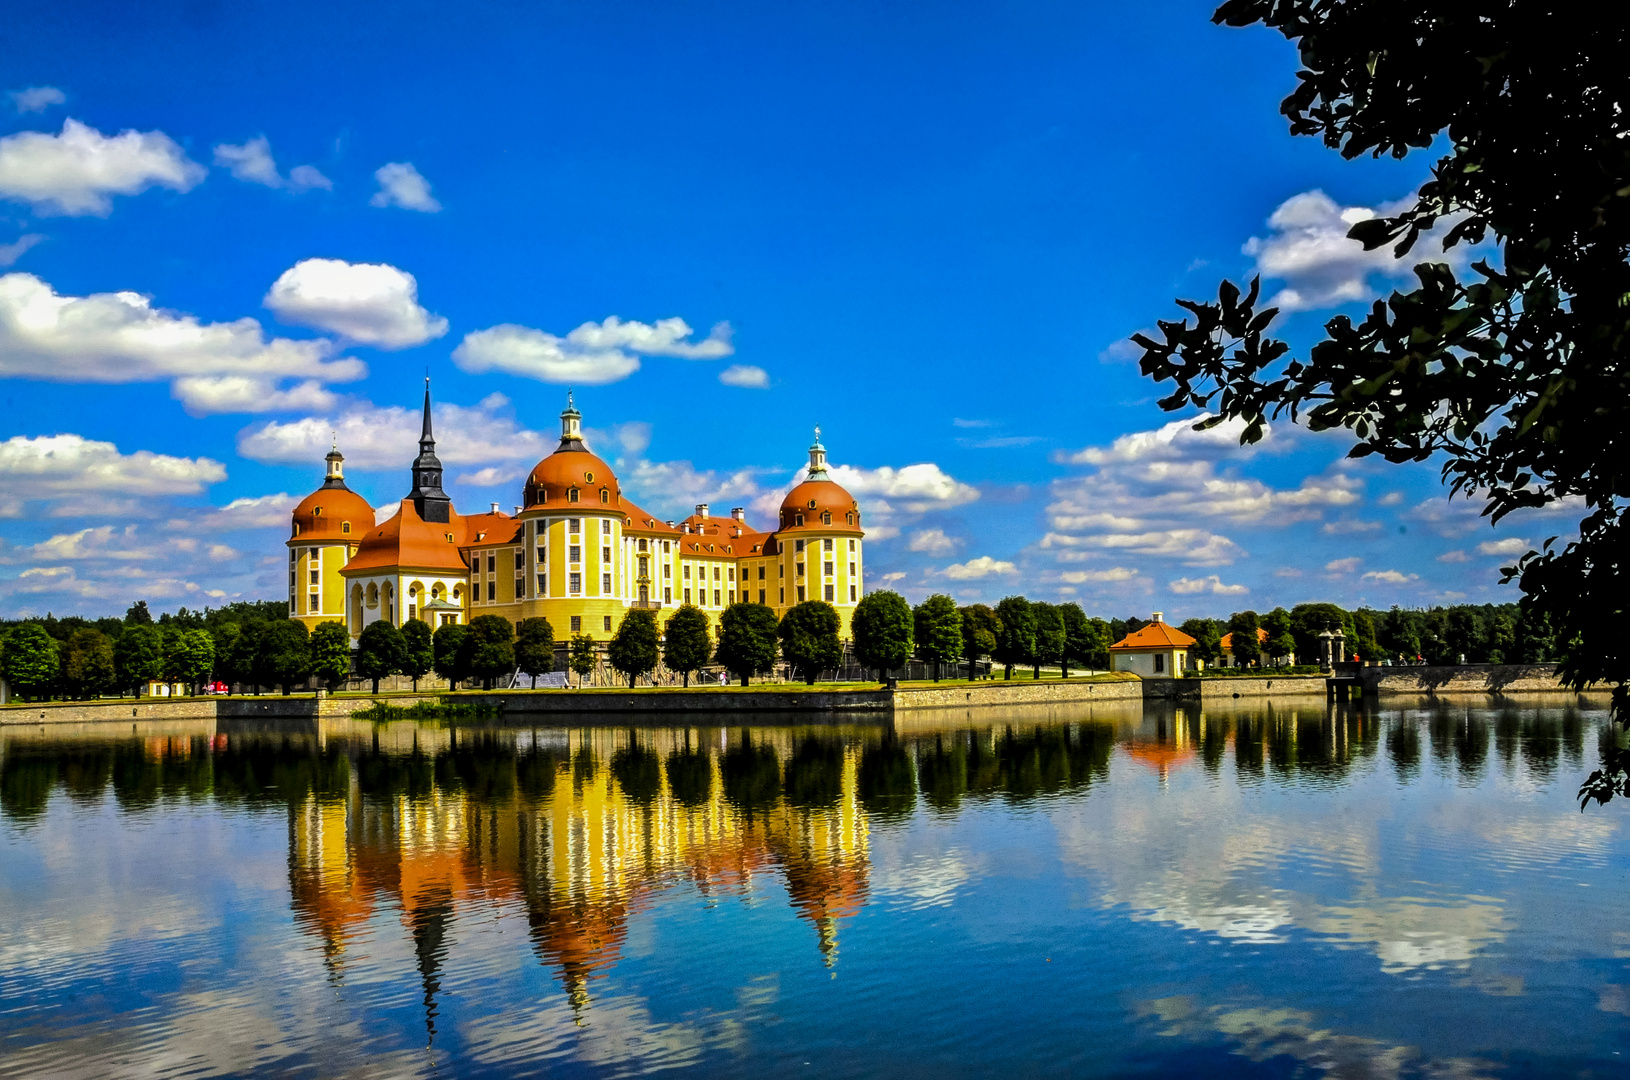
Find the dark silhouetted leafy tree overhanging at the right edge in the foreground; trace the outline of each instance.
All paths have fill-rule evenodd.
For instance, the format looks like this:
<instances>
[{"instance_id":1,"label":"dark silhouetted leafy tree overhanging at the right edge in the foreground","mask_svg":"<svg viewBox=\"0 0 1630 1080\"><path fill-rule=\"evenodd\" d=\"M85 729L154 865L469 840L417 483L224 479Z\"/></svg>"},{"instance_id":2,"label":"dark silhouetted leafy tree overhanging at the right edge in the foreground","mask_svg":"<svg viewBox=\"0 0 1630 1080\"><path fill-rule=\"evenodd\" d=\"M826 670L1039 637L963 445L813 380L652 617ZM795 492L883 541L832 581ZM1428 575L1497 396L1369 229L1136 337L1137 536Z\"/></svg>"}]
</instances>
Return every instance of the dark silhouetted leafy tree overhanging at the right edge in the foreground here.
<instances>
[{"instance_id":1,"label":"dark silhouetted leafy tree overhanging at the right edge in the foreground","mask_svg":"<svg viewBox=\"0 0 1630 1080\"><path fill-rule=\"evenodd\" d=\"M1423 262L1418 287L1356 326L1330 319L1307 358L1288 362L1255 283L1240 298L1224 282L1214 305L1183 301L1195 326L1162 323L1164 342L1136 339L1144 373L1177 383L1162 406L1216 404L1203 424L1242 422L1245 441L1289 414L1351 430L1351 456L1441 454L1451 492L1478 497L1491 521L1581 503L1578 539L1529 551L1504 580L1570 643L1562 678L1612 684L1615 722L1630 720L1620 555L1630 477L1601 468L1622 453L1627 412L1623 18L1615 8L1581 33L1537 3L1229 0L1213 20L1260 21L1297 41L1304 70L1281 106L1293 134L1346 158L1402 158L1447 129L1447 153L1416 197L1355 223L1351 238L1402 257L1443 226L1444 246L1490 239L1496 257L1465 280ZM1615 748L1581 798L1627 792L1630 749Z\"/></svg>"}]
</instances>

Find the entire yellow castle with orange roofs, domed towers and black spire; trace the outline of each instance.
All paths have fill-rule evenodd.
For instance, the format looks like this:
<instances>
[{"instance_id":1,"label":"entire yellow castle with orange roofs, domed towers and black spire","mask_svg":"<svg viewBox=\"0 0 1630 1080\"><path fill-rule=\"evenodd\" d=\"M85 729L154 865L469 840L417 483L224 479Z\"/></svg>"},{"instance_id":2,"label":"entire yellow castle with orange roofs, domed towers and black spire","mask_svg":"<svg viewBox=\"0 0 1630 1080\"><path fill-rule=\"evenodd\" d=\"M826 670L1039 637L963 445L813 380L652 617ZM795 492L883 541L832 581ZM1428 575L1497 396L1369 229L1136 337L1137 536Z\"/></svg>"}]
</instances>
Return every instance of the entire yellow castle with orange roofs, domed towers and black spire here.
<instances>
[{"instance_id":1,"label":"entire yellow castle with orange roofs, domed towers and black spire","mask_svg":"<svg viewBox=\"0 0 1630 1080\"><path fill-rule=\"evenodd\" d=\"M513 516L497 503L458 513L442 490L429 381L411 472L396 513L377 523L368 502L346 487L339 448L329 451L323 485L293 510L290 617L308 629L344 621L355 640L378 619L440 627L484 614L543 616L557 639L605 640L636 608L655 611L662 626L680 604L694 604L717 630L734 603L766 604L781 617L825 599L848 639L864 595L861 507L828 476L820 428L808 472L781 500L771 531L748 525L740 507L717 518L701 503L680 523L641 510L584 445L570 394L561 445L528 472Z\"/></svg>"}]
</instances>

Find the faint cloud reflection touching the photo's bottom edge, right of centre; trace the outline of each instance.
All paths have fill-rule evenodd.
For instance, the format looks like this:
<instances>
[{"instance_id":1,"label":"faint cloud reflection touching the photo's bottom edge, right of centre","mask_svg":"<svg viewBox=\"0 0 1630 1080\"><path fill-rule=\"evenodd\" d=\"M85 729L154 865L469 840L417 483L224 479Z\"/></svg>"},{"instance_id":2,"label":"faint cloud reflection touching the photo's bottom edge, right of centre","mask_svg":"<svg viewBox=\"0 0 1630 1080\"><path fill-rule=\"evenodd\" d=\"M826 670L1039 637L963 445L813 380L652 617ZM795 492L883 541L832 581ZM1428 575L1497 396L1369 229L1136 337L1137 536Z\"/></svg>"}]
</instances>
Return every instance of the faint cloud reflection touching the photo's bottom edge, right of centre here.
<instances>
[{"instance_id":1,"label":"faint cloud reflection touching the photo's bottom edge, right of centre","mask_svg":"<svg viewBox=\"0 0 1630 1080\"><path fill-rule=\"evenodd\" d=\"M1312 1013L1299 1008L1201 1008L1192 997L1164 997L1144 1002L1138 1012L1164 1025L1162 1036L1208 1041L1221 1034L1232 1052L1247 1060L1263 1064L1293 1057L1327 1077L1483 1077L1498 1069L1493 1062L1467 1059L1421 1060L1413 1046L1319 1028Z\"/></svg>"}]
</instances>

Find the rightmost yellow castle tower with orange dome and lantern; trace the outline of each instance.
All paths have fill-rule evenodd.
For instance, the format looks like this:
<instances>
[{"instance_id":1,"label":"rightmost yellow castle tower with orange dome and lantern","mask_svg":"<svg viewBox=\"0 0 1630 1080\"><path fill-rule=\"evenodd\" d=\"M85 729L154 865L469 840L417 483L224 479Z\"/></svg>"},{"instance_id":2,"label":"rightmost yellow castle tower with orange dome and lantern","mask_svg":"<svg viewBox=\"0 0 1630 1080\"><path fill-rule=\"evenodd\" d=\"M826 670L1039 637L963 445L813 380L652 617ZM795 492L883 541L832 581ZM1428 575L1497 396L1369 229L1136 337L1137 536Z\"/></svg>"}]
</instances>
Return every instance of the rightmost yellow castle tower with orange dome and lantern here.
<instances>
[{"instance_id":1,"label":"rightmost yellow castle tower with orange dome and lantern","mask_svg":"<svg viewBox=\"0 0 1630 1080\"><path fill-rule=\"evenodd\" d=\"M776 521L776 614L805 599L823 599L838 609L839 637L848 639L864 593L864 538L861 503L826 472L826 448L815 428L808 472L781 500Z\"/></svg>"}]
</instances>

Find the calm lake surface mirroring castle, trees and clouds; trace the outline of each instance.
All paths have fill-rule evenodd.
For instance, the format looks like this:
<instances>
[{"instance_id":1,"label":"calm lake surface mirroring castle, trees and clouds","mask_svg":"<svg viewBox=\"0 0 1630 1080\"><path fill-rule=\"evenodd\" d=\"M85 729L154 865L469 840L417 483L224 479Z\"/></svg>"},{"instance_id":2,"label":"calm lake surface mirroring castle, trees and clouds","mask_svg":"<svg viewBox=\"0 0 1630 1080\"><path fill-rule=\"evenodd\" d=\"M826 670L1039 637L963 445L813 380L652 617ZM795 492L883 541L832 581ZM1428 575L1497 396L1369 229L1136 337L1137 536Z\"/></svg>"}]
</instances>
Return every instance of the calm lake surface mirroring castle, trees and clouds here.
<instances>
[{"instance_id":1,"label":"calm lake surface mirroring castle, trees and clouds","mask_svg":"<svg viewBox=\"0 0 1630 1080\"><path fill-rule=\"evenodd\" d=\"M0 1075L1619 1075L1604 704L0 730Z\"/></svg>"}]
</instances>

